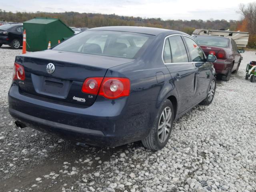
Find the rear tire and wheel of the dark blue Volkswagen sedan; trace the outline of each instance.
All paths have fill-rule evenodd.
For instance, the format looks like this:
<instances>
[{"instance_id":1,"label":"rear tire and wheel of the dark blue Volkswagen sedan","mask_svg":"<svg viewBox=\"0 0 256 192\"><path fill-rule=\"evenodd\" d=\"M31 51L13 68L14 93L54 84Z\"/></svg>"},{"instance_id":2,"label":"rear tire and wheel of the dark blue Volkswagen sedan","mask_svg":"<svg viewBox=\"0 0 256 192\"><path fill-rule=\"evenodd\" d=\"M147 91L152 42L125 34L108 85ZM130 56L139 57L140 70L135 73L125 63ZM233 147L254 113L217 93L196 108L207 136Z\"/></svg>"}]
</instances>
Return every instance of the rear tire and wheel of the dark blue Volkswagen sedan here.
<instances>
[{"instance_id":1,"label":"rear tire and wheel of the dark blue Volkswagen sedan","mask_svg":"<svg viewBox=\"0 0 256 192\"><path fill-rule=\"evenodd\" d=\"M167 119L164 118L167 116ZM142 140L144 147L152 150L164 148L170 138L172 123L174 120L174 110L172 102L168 99L161 104L160 110L156 116L153 128L148 136ZM167 134L166 134L167 133Z\"/></svg>"}]
</instances>

